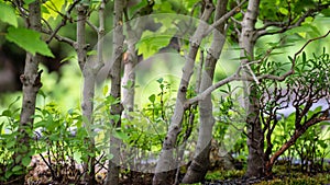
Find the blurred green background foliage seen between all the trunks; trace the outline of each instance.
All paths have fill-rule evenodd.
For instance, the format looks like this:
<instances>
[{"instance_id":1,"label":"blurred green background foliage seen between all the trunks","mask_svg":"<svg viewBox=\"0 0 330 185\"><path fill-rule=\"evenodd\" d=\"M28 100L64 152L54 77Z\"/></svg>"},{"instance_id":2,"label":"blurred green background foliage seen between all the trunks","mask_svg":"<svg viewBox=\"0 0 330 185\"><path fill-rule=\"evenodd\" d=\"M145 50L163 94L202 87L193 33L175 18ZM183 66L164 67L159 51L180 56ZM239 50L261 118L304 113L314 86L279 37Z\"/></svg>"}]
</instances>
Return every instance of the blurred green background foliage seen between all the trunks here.
<instances>
[{"instance_id":1,"label":"blurred green background foliage seen between all the trunks","mask_svg":"<svg viewBox=\"0 0 330 185\"><path fill-rule=\"evenodd\" d=\"M2 1L1 1L2 2ZM132 4L129 10L129 14L131 18L139 12L141 15L147 13L150 10L143 9L147 8L147 1L142 0L139 3L135 1L131 1ZM194 9L194 5L198 2L198 0L190 1L174 1L174 0L155 0L155 5L153 5L153 11L155 13L173 13L176 16L178 14L189 14ZM305 5L308 5L309 1L306 1ZM43 18L48 21L48 24L54 27L62 20L58 16L58 12L64 12L64 8L66 8L72 1L65 0L52 0L47 1L43 4ZM96 9L97 2L91 3L91 10ZM279 7L278 10L274 8ZM297 3L298 4L298 3ZM302 2L301 2L302 4ZM112 10L112 3L107 3L108 10ZM295 8L295 13L299 13L301 11L301 7L297 5ZM193 16L198 18L199 11L194 11ZM274 18L275 21L277 19L285 19L288 16L287 10L285 5L280 4L279 0L275 2L273 0L263 1L261 5L261 18ZM106 11L106 31L111 36L112 27L112 12ZM75 16L75 14L74 14ZM241 15L237 15L241 16ZM132 120L123 120L123 132L117 132L118 137L125 140L128 144L132 144L136 148L141 148L145 151L158 151L162 146L162 138L167 130L168 122L170 115L173 114L173 107L175 103L175 94L178 88L182 67L184 65L185 58L183 57L184 51L177 53L173 50L167 50L165 54L157 53L163 47L167 46L170 43L173 37L173 32L170 31L174 26L172 22L166 22L166 20L162 22L162 16L158 18L158 23L162 23L165 26L164 30L154 30L144 32L141 42L138 43L139 54L143 54L144 59L136 67L136 93L135 93L135 106L139 109L138 113L132 113L134 119ZM98 24L98 14L97 11L90 12L90 22L94 24ZM18 25L23 26L23 22L21 19L18 19ZM262 26L262 20L257 20L257 26ZM270 56L268 60L274 60L276 62L280 62L282 65L288 62L288 56L293 56L301 46L310 38L318 37L323 35L329 31L330 18L329 10L323 13L318 14L315 19L307 19L301 26L293 28L285 34L280 35L270 35L264 36L257 41L255 46L255 56L262 57L270 48L279 45L274 49L273 54ZM9 70L13 72L13 77L10 76L0 76L0 80L4 78L11 78L11 83L6 83L6 85L0 86L0 113L3 114L4 111L8 109L9 105L11 105L12 109L18 109L21 107L20 101L14 101L18 97L22 97L21 93L21 83L19 77L23 73L23 66L25 60L25 51L4 39L4 35L8 32L9 24L0 22L0 71L4 72L7 67L9 66ZM75 39L76 37L76 25L70 22L61 28L59 34L65 37ZM275 27L272 27L276 30ZM169 30L169 31L168 31ZM164 33L172 33L165 35L163 38L158 38L156 41L148 39L148 36L152 35L162 35ZM90 44L90 48L97 44L97 34L87 26L87 43ZM240 65L239 56L240 50L238 46L238 36L234 35L233 27L230 27L229 36L227 37L227 43L224 46L224 50L222 51L220 61L217 63L215 82L226 77L232 74ZM183 49L188 48L188 41L186 38L182 42ZM207 50L210 46L211 36L208 37L205 43L202 43L202 49ZM312 58L312 54L317 56L320 55L326 49L327 53L330 50L330 37L324 39L320 39L311 43L306 49L305 53L308 58ZM154 44L154 45L153 45ZM111 44L110 44L111 45ZM37 107L41 109L45 109L48 112L41 112L42 116L46 116L45 114L54 114L59 117L59 119L54 120L57 124L67 123L67 125L62 125L61 127L53 129L53 134L50 135L50 139L53 142L58 142L52 136L58 136L63 130L65 130L65 136L61 136L66 138L64 146L69 148L72 141L68 139L69 131L68 127L81 127L81 117L77 115L80 114L80 103L81 103L81 90L82 90L82 77L80 69L77 62L76 51L68 45L58 43L56 41L52 41L50 43L50 48L53 51L55 58L47 57L45 61L41 65L41 68L44 70L42 74L42 83L43 86L38 93L37 97ZM90 49L90 50L91 50ZM106 53L111 53L111 46L106 47ZM197 58L200 58L200 53L198 53ZM204 53L206 55L206 51ZM111 57L110 55L108 56ZM196 67L199 62L196 63ZM289 66L284 66L284 68L288 69ZM196 77L193 77L193 81L196 80ZM212 100L215 103L215 117L216 117L216 126L213 129L213 137L216 140L220 141L220 148L223 148L224 151L231 151L232 154L240 161L246 161L248 157L248 148L246 148L246 137L242 134L241 130L244 130L244 120L234 119L238 117L237 112L232 112L233 109L240 111L241 105L240 102L237 101L240 95L242 95L242 90L233 90L234 86L240 85L240 82L233 82L231 85L224 85L219 90L215 91L212 94ZM105 81L98 84L97 93L96 93L96 102L100 105L103 103L102 101L107 100L107 93L109 81ZM231 88L232 86L232 88ZM235 92L234 92L235 91ZM106 93L105 93L106 92ZM189 90L190 95L194 95L194 90ZM224 94L224 95L223 95ZM237 95L237 96L235 96ZM105 101L106 104L99 107L96 111L96 122L106 123L105 120L110 119L105 118L102 115L97 117L100 112L109 112L109 109L103 106L109 106L110 102ZM53 108L53 109L52 109ZM55 111L54 111L55 109ZM54 112L52 112L54 111ZM197 111L193 109L193 114L196 114ZM101 115L101 114L100 114ZM196 114L197 115L197 114ZM289 115L289 114L288 114ZM16 114L12 114L11 116L18 119ZM69 119L69 116L74 116L74 118ZM76 116L76 117L75 117ZM185 115L187 118L189 113ZM8 117L1 116L0 123L6 123ZM42 118L41 118L42 119ZM292 130L290 127L294 127L293 117L289 115L288 117L280 120L280 126L274 131L274 144L275 148L280 147L285 140L287 140L287 136L284 138L279 137L283 134L287 134ZM38 120L38 119L36 119ZM16 122L16 120L15 120ZM9 122L10 123L10 122ZM52 122L53 123L53 122ZM80 126L78 124L80 123ZM164 124L165 123L165 124ZM187 122L184 124L184 130L189 129L189 125ZM231 124L234 123L235 127L232 127ZM152 124L152 125L148 125ZM36 123L37 125L37 123ZM193 123L194 127L198 127L198 117L195 118ZM105 125L99 125L103 127ZM125 127L127 126L127 127ZM136 126L136 127L135 127ZM4 128L4 127L2 127ZM321 129L328 128L328 129ZM155 131L157 130L157 131ZM1 134L8 131L4 129L0 130ZM197 129L191 135L193 139L197 137ZM156 134L155 134L156 132ZM184 132L184 131L183 131ZM78 139L81 139L86 136L85 132L80 132L81 136ZM130 136L128 138L128 136ZM277 137L278 136L278 137ZM52 137L52 138L51 138ZM100 132L98 136L97 147L100 149L102 146L101 141L107 140L107 136ZM179 136L179 141L184 140L184 135ZM194 138L195 137L195 138ZM316 140L316 137L317 140ZM76 142L76 141L73 141ZM45 144L45 143L44 143ZM283 158L294 158L298 157L300 159L306 159L307 163L317 160L316 157L322 157L324 159L330 158L329 151L330 144L330 136L329 136L329 123L323 123L319 127L312 127L309 129L304 137L299 138L295 148L286 151ZM42 146L46 150L46 144ZM80 147L74 153L76 159L87 158L84 157L86 148L82 146L76 144L75 147ZM194 147L194 143L193 143ZM67 149L66 148L66 149ZM299 149L304 148L302 151ZM38 149L35 149L35 152L41 152ZM80 152L80 153L79 153ZM81 154L82 153L82 154ZM317 153L316 155L310 155L310 153ZM86 153L85 153L86 154ZM88 153L87 153L88 154ZM306 162L305 161L305 162ZM302 161L304 162L304 161ZM243 163L243 165L245 165ZM304 167L304 165L302 165ZM306 167L306 166L305 166Z\"/></svg>"}]
</instances>

